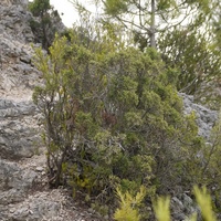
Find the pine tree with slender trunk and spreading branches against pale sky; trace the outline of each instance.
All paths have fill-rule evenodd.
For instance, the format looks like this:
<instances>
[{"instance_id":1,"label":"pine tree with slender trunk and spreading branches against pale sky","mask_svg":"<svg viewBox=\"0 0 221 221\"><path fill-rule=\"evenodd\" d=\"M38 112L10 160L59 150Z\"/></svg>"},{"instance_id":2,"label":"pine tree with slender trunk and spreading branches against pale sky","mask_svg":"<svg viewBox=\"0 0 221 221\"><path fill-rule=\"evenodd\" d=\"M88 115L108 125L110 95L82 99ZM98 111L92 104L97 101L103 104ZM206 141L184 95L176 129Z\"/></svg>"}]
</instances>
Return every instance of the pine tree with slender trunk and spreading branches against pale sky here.
<instances>
[{"instance_id":1,"label":"pine tree with slender trunk and spreading branches against pale sky","mask_svg":"<svg viewBox=\"0 0 221 221\"><path fill-rule=\"evenodd\" d=\"M210 2L199 1L123 1L105 0L105 15L103 20L122 23L134 33L135 43L141 50L144 48L157 46L157 35L181 27L183 23L191 23L191 27L199 28L210 14ZM198 10L196 10L198 9Z\"/></svg>"}]
</instances>

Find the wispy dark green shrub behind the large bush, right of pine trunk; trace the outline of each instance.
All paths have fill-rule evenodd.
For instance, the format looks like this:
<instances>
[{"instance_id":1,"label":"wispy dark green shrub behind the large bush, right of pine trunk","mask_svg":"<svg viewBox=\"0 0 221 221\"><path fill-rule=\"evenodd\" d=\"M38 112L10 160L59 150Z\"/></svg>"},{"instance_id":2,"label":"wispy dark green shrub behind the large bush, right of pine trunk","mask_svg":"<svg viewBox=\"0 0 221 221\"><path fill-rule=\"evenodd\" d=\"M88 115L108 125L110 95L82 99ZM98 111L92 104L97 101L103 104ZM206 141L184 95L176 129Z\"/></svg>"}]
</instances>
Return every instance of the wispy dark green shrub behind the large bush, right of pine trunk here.
<instances>
[{"instance_id":1,"label":"wispy dark green shrub behind the large bush, right of pine trunk","mask_svg":"<svg viewBox=\"0 0 221 221\"><path fill-rule=\"evenodd\" d=\"M178 91L204 96L210 82L220 76L220 57L209 38L190 30L173 30L159 38L159 49L168 66L178 69Z\"/></svg>"}]
</instances>

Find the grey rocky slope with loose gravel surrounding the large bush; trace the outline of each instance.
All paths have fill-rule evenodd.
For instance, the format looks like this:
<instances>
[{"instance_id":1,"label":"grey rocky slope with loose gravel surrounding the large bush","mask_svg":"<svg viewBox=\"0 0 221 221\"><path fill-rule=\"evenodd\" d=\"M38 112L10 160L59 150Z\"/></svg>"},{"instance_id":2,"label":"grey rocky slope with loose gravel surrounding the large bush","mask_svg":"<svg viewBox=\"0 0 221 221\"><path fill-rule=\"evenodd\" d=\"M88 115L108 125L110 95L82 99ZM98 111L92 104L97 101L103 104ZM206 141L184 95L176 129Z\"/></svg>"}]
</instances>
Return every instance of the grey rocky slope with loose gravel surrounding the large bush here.
<instances>
[{"instance_id":1,"label":"grey rocky slope with loose gravel surrounding the large bush","mask_svg":"<svg viewBox=\"0 0 221 221\"><path fill-rule=\"evenodd\" d=\"M31 99L42 80L31 62L34 36L27 4L28 0L0 1L0 220L99 220L65 190L48 189L41 115ZM186 114L197 112L199 133L208 138L217 113L194 104L193 97L181 96ZM194 210L186 193L173 197L171 208L175 220Z\"/></svg>"}]
</instances>

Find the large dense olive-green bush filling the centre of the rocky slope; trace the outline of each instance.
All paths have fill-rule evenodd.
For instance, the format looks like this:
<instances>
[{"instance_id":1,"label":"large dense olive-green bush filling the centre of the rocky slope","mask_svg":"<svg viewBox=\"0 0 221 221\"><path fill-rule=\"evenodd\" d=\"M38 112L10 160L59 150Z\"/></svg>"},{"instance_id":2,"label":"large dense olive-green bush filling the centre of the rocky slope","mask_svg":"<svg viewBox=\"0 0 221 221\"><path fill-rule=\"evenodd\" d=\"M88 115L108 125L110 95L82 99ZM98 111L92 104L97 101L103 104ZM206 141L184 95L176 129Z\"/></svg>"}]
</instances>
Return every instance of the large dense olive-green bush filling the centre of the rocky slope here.
<instances>
[{"instance_id":1,"label":"large dense olive-green bush filling the centre of the rocky slope","mask_svg":"<svg viewBox=\"0 0 221 221\"><path fill-rule=\"evenodd\" d=\"M203 148L194 115L183 116L176 73L152 50L90 44L76 31L35 50L44 85L33 101L44 116L49 180L114 202L113 191L179 192L201 180ZM90 38L85 38L90 40ZM122 44L123 45L123 44Z\"/></svg>"}]
</instances>

